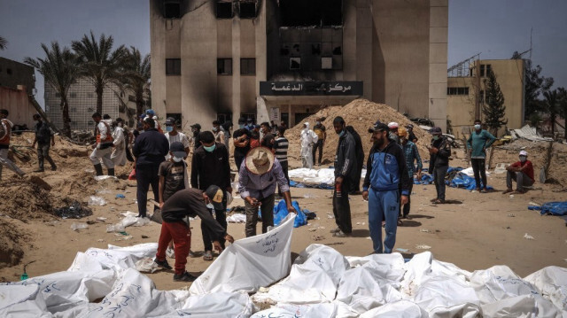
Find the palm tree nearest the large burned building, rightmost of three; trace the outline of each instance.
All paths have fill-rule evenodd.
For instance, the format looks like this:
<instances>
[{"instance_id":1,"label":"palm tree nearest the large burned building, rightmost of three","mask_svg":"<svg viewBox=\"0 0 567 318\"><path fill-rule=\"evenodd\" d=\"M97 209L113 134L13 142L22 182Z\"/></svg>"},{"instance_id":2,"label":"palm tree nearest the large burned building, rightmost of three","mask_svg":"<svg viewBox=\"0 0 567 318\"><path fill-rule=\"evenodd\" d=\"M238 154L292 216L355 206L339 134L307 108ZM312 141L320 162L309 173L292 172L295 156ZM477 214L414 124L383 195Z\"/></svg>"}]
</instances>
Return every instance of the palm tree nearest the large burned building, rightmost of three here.
<instances>
[{"instance_id":1,"label":"palm tree nearest the large burned building, rightmost of three","mask_svg":"<svg viewBox=\"0 0 567 318\"><path fill-rule=\"evenodd\" d=\"M139 50L130 47L120 84L122 89L134 92L137 116L144 112L144 97L150 96L150 67L150 54L142 57Z\"/></svg>"}]
</instances>

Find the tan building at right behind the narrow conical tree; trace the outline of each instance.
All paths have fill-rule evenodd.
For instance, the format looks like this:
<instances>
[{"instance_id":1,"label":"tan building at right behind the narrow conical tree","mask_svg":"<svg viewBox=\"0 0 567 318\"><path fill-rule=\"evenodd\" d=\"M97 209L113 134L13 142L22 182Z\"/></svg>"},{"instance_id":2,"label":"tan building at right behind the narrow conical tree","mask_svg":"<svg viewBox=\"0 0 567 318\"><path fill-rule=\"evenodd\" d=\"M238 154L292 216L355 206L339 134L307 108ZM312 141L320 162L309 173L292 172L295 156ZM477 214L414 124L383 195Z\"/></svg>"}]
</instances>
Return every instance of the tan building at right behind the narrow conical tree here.
<instances>
[{"instance_id":1,"label":"tan building at right behind the narrow conical tree","mask_svg":"<svg viewBox=\"0 0 567 318\"><path fill-rule=\"evenodd\" d=\"M523 59L477 59L460 67L459 72L451 70L447 78L447 120L450 120L455 136L462 136L463 132L468 134L476 119L485 122L482 107L488 102L485 87L491 70L504 95L506 127L517 129L524 126ZM501 132L503 130L501 128Z\"/></svg>"}]
</instances>

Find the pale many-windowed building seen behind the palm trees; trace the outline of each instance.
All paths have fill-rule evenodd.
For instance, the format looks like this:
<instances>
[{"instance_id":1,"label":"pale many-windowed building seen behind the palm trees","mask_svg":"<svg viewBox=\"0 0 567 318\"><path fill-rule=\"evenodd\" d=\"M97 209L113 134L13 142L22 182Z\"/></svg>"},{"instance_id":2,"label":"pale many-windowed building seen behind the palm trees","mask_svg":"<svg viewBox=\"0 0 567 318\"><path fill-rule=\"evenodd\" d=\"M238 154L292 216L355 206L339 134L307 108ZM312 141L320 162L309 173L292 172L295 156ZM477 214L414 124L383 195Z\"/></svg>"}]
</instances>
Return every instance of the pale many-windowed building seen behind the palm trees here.
<instances>
[{"instance_id":1,"label":"pale many-windowed building seen behind the palm trees","mask_svg":"<svg viewBox=\"0 0 567 318\"><path fill-rule=\"evenodd\" d=\"M71 86L67 95L69 101L69 117L72 130L94 129L92 114L97 111L97 93L94 85L86 79L80 79ZM45 112L53 125L63 128L63 112L60 107L59 93L49 83L45 83ZM136 98L128 93L120 92L114 85L105 87L103 93L103 112L111 118L121 117L132 127L136 120Z\"/></svg>"}]
</instances>

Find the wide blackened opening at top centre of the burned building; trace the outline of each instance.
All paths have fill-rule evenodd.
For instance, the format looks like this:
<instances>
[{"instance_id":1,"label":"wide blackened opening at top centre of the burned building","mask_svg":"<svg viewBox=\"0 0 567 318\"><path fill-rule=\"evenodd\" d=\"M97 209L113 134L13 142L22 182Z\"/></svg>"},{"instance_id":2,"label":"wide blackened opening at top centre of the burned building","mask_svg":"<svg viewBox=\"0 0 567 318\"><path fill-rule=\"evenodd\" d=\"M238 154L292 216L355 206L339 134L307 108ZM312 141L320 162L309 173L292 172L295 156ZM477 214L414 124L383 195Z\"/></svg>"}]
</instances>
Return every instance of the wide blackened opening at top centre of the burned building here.
<instances>
[{"instance_id":1,"label":"wide blackened opening at top centre of the burned building","mask_svg":"<svg viewBox=\"0 0 567 318\"><path fill-rule=\"evenodd\" d=\"M342 0L280 0L284 27L330 27L343 24Z\"/></svg>"}]
</instances>

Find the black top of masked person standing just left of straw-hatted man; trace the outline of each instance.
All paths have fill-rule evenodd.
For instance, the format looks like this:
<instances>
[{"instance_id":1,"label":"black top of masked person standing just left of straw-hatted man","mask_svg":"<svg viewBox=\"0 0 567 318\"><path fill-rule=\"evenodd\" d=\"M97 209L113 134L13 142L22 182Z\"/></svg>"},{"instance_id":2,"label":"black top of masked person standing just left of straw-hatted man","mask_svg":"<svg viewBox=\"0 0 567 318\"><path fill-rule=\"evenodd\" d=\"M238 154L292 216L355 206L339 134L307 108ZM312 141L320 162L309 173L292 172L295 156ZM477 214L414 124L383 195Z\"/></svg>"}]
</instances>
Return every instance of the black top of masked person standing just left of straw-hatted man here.
<instances>
[{"instance_id":1,"label":"black top of masked person standing just left of straw-hatted man","mask_svg":"<svg viewBox=\"0 0 567 318\"><path fill-rule=\"evenodd\" d=\"M225 190L230 185L229 151L223 143L214 143L213 152L203 146L193 153L191 161L191 187L206 190L216 185Z\"/></svg>"}]
</instances>

